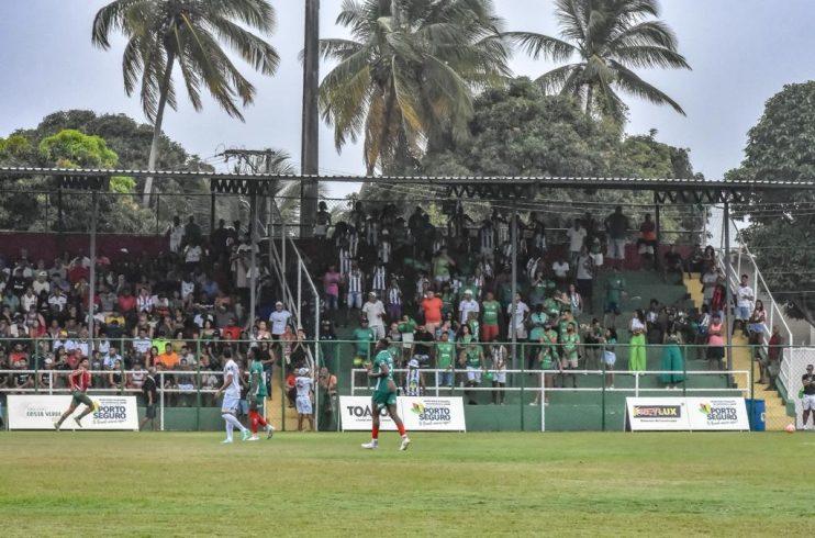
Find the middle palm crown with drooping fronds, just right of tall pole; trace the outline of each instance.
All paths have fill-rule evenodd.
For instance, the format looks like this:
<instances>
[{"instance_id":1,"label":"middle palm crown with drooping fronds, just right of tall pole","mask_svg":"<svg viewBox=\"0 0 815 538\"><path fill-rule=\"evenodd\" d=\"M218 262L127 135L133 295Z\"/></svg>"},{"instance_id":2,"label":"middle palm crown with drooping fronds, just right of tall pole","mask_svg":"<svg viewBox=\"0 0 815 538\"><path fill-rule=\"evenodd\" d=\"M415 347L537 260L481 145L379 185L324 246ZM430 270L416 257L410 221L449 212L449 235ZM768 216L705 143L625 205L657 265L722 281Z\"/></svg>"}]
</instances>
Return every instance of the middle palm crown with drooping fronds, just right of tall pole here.
<instances>
[{"instance_id":1,"label":"middle palm crown with drooping fronds, just right of tall pole","mask_svg":"<svg viewBox=\"0 0 815 538\"><path fill-rule=\"evenodd\" d=\"M337 150L365 136L368 175L427 144L465 138L473 91L509 76L491 0L344 0L351 40L322 40L338 64L320 86Z\"/></svg>"}]
</instances>

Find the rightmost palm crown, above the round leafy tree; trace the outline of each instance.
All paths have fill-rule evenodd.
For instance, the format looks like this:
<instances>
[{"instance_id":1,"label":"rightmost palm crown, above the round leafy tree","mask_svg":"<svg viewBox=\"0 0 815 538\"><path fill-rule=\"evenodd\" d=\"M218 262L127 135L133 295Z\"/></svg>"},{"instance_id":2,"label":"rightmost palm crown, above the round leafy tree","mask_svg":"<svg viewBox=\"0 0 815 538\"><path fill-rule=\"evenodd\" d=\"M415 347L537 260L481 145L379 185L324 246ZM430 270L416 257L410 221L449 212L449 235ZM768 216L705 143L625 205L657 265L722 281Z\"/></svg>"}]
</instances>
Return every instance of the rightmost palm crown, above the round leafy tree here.
<instances>
[{"instance_id":1,"label":"rightmost palm crown, above the round leafy tree","mask_svg":"<svg viewBox=\"0 0 815 538\"><path fill-rule=\"evenodd\" d=\"M529 32L504 34L534 58L547 57L579 61L557 67L536 82L545 91L572 94L592 112L625 122L626 105L618 91L668 104L684 115L682 108L666 93L649 85L633 69L690 69L678 53L677 37L659 16L658 0L555 0L555 15L562 40Z\"/></svg>"}]
</instances>

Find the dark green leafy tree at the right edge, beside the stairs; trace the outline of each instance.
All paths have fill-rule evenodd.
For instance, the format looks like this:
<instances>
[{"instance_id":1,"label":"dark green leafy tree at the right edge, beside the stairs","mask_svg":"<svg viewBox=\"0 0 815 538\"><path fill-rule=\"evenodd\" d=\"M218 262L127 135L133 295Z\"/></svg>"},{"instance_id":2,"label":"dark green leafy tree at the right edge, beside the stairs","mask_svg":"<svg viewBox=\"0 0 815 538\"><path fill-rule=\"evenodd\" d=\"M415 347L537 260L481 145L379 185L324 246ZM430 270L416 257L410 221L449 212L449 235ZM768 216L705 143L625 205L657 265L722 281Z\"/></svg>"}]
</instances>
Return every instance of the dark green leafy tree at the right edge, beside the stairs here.
<instances>
[{"instance_id":1,"label":"dark green leafy tree at the right edge, beside the stairs","mask_svg":"<svg viewBox=\"0 0 815 538\"><path fill-rule=\"evenodd\" d=\"M727 179L767 181L815 178L815 82L788 85L773 96L747 133L746 158ZM764 192L738 208L743 232L768 285L789 313L815 324L815 192Z\"/></svg>"}]
</instances>

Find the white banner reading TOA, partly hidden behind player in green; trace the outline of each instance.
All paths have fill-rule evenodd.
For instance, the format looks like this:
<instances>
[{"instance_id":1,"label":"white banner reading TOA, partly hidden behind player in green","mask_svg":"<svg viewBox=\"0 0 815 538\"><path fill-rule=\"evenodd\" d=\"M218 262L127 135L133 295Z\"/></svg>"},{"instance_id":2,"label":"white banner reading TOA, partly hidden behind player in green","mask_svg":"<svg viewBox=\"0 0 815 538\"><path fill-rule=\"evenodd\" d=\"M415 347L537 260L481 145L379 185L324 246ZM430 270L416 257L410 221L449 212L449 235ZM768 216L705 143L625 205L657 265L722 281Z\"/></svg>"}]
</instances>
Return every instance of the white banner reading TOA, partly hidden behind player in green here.
<instances>
[{"instance_id":1,"label":"white banner reading TOA, partly hidden behind player in green","mask_svg":"<svg viewBox=\"0 0 815 538\"><path fill-rule=\"evenodd\" d=\"M340 425L344 431L371 428L371 400L368 396L339 396ZM397 412L408 431L466 431L465 408L460 397L399 396ZM380 413L379 429L393 431L397 426L386 410Z\"/></svg>"}]
</instances>

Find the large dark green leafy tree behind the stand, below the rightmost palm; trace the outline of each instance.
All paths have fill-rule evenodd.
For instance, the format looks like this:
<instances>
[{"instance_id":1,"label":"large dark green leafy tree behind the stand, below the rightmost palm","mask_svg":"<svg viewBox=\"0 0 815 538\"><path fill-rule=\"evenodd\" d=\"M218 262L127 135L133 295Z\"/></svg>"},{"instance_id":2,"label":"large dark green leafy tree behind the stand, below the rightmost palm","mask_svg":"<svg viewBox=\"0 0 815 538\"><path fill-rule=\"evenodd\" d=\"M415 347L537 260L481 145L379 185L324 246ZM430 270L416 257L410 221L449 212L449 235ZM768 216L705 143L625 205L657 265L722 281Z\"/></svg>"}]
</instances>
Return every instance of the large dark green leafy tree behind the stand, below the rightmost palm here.
<instances>
[{"instance_id":1,"label":"large dark green leafy tree behind the stand, below the rightmost palm","mask_svg":"<svg viewBox=\"0 0 815 538\"><path fill-rule=\"evenodd\" d=\"M529 79L512 80L506 88L484 91L475 102L470 122L471 136L466 143L451 143L439 150L429 150L418 167L393 169L389 172L427 176L559 176L559 177L643 177L688 178L693 169L686 149L668 146L646 136L621 137L613 123L593 119L581 111L570 97L545 96ZM372 200L427 197L422 189L386 189L366 187L365 197ZM577 195L577 197L576 197ZM535 203L528 201L524 211L549 213L552 224L566 224L584 210L570 208L572 201L613 204L650 204L646 192L549 190ZM536 208L544 200L551 205ZM408 211L412 203L401 204ZM500 204L503 208L506 203ZM468 213L479 218L491 208L485 203L468 203ZM689 214L666 209L665 231L700 229L703 213ZM610 208L603 211L611 212ZM639 210L643 213L650 209ZM629 212L630 214L630 212ZM596 215L601 216L601 215Z\"/></svg>"}]
</instances>

